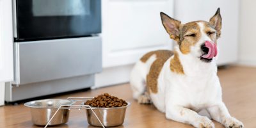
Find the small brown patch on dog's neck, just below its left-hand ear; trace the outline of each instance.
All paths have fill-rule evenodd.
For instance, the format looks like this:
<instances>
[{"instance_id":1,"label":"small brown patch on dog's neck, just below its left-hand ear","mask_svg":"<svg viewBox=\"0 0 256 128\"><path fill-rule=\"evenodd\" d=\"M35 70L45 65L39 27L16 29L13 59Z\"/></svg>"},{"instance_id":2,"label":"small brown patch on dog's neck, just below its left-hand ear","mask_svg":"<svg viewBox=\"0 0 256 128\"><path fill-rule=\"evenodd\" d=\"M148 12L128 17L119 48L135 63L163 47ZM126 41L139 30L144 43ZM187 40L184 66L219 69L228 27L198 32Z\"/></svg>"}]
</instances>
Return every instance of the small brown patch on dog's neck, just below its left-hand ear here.
<instances>
[{"instance_id":1,"label":"small brown patch on dog's neck, just below its left-hand ear","mask_svg":"<svg viewBox=\"0 0 256 128\"><path fill-rule=\"evenodd\" d=\"M174 52L174 56L170 63L170 68L172 72L176 72L177 74L184 74L183 66L180 63L179 54L177 52Z\"/></svg>"}]
</instances>

